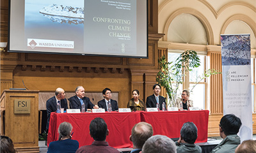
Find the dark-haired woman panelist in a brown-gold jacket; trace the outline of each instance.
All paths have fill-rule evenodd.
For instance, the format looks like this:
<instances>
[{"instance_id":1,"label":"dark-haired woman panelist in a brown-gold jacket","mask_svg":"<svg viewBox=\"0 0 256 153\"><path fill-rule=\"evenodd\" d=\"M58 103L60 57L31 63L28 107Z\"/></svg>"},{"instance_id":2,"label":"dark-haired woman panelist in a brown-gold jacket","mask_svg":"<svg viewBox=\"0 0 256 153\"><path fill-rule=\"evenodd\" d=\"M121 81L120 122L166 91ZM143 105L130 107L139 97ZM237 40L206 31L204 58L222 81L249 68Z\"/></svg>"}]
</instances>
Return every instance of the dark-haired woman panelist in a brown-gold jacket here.
<instances>
[{"instance_id":1,"label":"dark-haired woman panelist in a brown-gold jacket","mask_svg":"<svg viewBox=\"0 0 256 153\"><path fill-rule=\"evenodd\" d=\"M132 99L128 102L127 108L131 108L131 111L145 110L145 104L139 97L140 92L138 90L132 91Z\"/></svg>"}]
</instances>

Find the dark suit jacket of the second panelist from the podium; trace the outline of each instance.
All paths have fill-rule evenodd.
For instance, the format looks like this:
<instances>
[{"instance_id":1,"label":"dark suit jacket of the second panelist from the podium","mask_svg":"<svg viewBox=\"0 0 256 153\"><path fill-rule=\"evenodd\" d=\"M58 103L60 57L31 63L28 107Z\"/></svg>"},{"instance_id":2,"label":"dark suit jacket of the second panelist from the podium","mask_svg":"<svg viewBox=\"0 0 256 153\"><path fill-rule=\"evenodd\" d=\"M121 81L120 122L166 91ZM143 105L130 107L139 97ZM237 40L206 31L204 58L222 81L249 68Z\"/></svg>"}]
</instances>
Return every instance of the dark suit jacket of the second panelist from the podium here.
<instances>
[{"instance_id":1,"label":"dark suit jacket of the second panelist from the podium","mask_svg":"<svg viewBox=\"0 0 256 153\"><path fill-rule=\"evenodd\" d=\"M82 98L84 101L84 105L85 105L85 111L89 108L92 109L93 108L93 103L90 101L89 98L84 97ZM77 96L73 96L68 98L69 101L69 106L71 109L80 109L81 110L81 102L79 101L79 99L77 98Z\"/></svg>"}]
</instances>

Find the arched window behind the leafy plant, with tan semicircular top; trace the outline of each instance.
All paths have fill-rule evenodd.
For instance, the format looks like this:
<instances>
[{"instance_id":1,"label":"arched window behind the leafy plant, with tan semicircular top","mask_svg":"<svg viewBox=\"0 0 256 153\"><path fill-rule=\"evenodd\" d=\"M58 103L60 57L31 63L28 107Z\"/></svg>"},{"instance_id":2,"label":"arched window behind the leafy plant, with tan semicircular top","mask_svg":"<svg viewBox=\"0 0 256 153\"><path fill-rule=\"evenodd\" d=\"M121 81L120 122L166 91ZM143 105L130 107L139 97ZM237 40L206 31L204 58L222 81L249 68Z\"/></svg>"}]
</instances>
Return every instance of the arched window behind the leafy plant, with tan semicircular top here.
<instances>
[{"instance_id":1,"label":"arched window behind the leafy plant, with tan semicircular top","mask_svg":"<svg viewBox=\"0 0 256 153\"><path fill-rule=\"evenodd\" d=\"M180 14L172 20L168 29L167 40L175 43L207 45L207 36L203 24L198 18L188 13ZM168 50L168 61L175 62L180 52L184 52L184 50ZM186 85L179 87L178 97L180 97L183 89L189 88L191 90L195 85L196 77L202 75L205 71L206 52L198 52L198 55L200 56L201 65L186 75L184 83L188 80L189 83L185 83L188 87ZM205 109L205 94L206 80L202 80L190 94L190 98L194 101L194 107Z\"/></svg>"}]
</instances>

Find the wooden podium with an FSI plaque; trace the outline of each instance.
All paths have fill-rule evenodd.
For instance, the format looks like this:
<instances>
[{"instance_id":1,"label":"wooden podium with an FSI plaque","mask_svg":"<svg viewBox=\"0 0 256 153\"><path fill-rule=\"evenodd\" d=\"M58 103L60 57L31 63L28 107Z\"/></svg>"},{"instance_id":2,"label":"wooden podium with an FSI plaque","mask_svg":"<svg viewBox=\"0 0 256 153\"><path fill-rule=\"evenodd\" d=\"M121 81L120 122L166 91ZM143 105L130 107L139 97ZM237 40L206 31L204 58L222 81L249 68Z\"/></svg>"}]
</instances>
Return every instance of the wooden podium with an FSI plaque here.
<instances>
[{"instance_id":1,"label":"wooden podium with an FSI plaque","mask_svg":"<svg viewBox=\"0 0 256 153\"><path fill-rule=\"evenodd\" d=\"M0 132L12 139L17 152L39 152L38 91L3 91Z\"/></svg>"}]
</instances>

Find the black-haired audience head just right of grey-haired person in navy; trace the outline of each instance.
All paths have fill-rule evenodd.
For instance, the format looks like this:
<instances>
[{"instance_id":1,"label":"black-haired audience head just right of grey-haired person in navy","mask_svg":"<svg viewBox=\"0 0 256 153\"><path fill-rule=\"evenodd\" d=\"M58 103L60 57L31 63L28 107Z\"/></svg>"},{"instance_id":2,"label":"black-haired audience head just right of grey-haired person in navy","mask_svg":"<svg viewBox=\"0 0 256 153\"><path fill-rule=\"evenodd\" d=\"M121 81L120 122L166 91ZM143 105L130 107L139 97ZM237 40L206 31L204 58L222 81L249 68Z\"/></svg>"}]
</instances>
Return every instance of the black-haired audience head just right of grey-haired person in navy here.
<instances>
[{"instance_id":1,"label":"black-haired audience head just right of grey-haired person in navy","mask_svg":"<svg viewBox=\"0 0 256 153\"><path fill-rule=\"evenodd\" d=\"M97 117L90 123L90 135L93 140L105 141L108 135L108 126L104 119Z\"/></svg>"}]
</instances>

